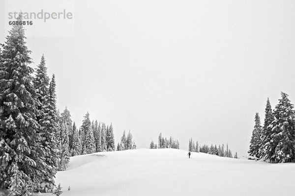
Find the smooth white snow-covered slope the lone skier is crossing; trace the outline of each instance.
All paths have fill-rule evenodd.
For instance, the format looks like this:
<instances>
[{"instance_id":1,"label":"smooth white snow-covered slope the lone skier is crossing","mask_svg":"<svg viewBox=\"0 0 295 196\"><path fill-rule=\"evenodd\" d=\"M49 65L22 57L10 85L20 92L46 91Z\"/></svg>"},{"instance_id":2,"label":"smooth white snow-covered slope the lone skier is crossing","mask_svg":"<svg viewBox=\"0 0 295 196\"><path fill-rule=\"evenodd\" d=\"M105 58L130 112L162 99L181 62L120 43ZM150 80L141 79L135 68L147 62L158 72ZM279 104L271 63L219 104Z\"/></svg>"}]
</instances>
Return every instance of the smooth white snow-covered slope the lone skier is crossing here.
<instances>
[{"instance_id":1,"label":"smooth white snow-covered slope the lone skier is crossing","mask_svg":"<svg viewBox=\"0 0 295 196\"><path fill-rule=\"evenodd\" d=\"M62 196L277 196L294 193L295 164L267 164L178 149L71 157ZM67 187L71 190L68 191ZM43 194L49 196L52 194Z\"/></svg>"}]
</instances>

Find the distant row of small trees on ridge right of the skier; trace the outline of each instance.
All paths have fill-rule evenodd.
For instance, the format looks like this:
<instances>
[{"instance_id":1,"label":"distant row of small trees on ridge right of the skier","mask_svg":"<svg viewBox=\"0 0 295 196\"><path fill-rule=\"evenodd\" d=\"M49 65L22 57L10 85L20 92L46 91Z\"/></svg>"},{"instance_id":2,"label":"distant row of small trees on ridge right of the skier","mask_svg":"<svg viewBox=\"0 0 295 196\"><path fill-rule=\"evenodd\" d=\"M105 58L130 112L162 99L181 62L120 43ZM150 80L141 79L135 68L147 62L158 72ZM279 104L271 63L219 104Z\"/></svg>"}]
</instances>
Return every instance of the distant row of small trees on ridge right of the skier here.
<instances>
[{"instance_id":1,"label":"distant row of small trees on ridge right of the skier","mask_svg":"<svg viewBox=\"0 0 295 196\"><path fill-rule=\"evenodd\" d=\"M213 144L211 144L210 147L208 145L203 145L203 146L200 146L200 148L199 148L198 141L195 143L192 138L189 140L188 151L190 151L190 152L204 152L207 154L214 154L214 155L221 156L221 157L229 157L229 158L238 159L237 152L235 153L235 155L233 157L232 150L229 149L228 144L226 144L226 149L224 147L224 144L222 144L222 146L219 145L218 147L217 147L217 145L213 146Z\"/></svg>"}]
</instances>

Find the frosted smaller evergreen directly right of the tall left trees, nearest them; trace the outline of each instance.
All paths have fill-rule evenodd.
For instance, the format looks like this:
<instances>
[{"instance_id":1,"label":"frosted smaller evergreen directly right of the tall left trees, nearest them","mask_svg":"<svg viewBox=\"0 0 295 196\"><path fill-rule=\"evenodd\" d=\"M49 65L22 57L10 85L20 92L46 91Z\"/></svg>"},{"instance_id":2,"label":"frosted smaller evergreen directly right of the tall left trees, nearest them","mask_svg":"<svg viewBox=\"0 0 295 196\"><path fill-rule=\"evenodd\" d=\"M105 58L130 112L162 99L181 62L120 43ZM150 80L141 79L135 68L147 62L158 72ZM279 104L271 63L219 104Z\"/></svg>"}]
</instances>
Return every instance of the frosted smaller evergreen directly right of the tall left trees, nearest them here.
<instances>
[{"instance_id":1,"label":"frosted smaller evergreen directly right of the tall left trees, nearest them","mask_svg":"<svg viewBox=\"0 0 295 196\"><path fill-rule=\"evenodd\" d=\"M69 160L70 160L70 153L69 153L69 137L67 135L68 127L65 122L61 123L59 129L59 168L58 171L65 171Z\"/></svg>"}]
</instances>

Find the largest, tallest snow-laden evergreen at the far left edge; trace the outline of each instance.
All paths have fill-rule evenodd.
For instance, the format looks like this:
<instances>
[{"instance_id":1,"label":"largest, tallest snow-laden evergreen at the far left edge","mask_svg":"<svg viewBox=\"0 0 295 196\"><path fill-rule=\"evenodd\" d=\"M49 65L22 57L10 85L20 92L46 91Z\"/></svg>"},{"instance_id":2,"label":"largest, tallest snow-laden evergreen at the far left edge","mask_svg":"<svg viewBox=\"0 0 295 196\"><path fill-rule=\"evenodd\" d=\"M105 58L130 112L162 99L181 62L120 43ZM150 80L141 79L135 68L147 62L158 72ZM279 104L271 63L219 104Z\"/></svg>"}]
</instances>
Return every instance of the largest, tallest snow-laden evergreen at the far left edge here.
<instances>
[{"instance_id":1,"label":"largest, tallest snow-laden evergreen at the far left edge","mask_svg":"<svg viewBox=\"0 0 295 196\"><path fill-rule=\"evenodd\" d=\"M22 21L22 16L17 20ZM10 187L10 195L19 195L19 191L29 194L28 190L44 178L44 153L39 147L40 125L36 121L42 112L37 108L40 102L32 84L33 69L29 67L31 58L25 39L23 25L13 25L1 45L0 179L1 187ZM15 174L24 184L14 189Z\"/></svg>"}]
</instances>

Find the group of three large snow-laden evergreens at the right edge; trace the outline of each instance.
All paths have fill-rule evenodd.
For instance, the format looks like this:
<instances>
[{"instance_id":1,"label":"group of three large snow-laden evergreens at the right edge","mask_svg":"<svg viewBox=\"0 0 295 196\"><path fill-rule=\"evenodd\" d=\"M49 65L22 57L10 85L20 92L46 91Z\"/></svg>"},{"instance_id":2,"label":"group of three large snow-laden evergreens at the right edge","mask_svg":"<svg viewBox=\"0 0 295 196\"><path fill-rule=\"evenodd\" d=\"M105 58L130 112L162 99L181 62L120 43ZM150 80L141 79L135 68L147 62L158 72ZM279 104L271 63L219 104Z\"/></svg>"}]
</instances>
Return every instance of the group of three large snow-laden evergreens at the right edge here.
<instances>
[{"instance_id":1,"label":"group of three large snow-laden evergreens at the right edge","mask_svg":"<svg viewBox=\"0 0 295 196\"><path fill-rule=\"evenodd\" d=\"M255 115L255 125L250 141L249 155L271 163L292 162L295 158L295 110L288 95L281 92L281 99L271 109L266 101L264 125L259 114Z\"/></svg>"}]
</instances>

